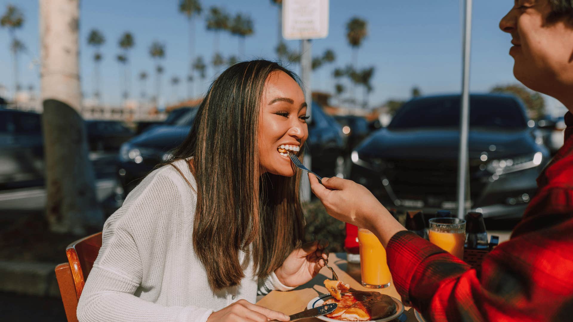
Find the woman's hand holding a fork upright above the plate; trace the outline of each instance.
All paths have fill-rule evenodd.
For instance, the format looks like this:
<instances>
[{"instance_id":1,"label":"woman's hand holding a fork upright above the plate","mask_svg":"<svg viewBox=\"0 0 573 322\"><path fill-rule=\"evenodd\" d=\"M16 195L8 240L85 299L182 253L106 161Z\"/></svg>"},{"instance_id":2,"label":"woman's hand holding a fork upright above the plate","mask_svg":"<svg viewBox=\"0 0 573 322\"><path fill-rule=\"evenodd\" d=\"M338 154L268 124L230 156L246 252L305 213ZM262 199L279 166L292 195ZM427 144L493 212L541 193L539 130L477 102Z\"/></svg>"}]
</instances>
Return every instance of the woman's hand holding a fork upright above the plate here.
<instances>
[{"instance_id":1,"label":"woman's hand holding a fork upright above the plate","mask_svg":"<svg viewBox=\"0 0 573 322\"><path fill-rule=\"evenodd\" d=\"M324 260L328 259L328 253L324 250L326 246L326 239L305 243L301 248L293 250L274 274L286 286L303 285L324 267Z\"/></svg>"}]
</instances>

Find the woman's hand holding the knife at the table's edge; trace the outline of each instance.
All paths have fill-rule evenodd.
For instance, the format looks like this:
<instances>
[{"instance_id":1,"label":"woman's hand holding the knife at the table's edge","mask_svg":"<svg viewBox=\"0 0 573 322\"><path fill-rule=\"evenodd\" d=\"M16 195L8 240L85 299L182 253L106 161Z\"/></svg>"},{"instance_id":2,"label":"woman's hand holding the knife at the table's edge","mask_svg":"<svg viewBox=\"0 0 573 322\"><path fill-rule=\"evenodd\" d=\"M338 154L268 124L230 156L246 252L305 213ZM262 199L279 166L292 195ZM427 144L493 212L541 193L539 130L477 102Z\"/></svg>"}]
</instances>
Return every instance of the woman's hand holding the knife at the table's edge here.
<instances>
[{"instance_id":1,"label":"woman's hand holding the knife at the table's edge","mask_svg":"<svg viewBox=\"0 0 573 322\"><path fill-rule=\"evenodd\" d=\"M257 321L266 322L269 320L288 321L291 318L284 313L273 311L272 309L260 307L245 300L238 300L226 308L211 313L207 322L218 321Z\"/></svg>"}]
</instances>

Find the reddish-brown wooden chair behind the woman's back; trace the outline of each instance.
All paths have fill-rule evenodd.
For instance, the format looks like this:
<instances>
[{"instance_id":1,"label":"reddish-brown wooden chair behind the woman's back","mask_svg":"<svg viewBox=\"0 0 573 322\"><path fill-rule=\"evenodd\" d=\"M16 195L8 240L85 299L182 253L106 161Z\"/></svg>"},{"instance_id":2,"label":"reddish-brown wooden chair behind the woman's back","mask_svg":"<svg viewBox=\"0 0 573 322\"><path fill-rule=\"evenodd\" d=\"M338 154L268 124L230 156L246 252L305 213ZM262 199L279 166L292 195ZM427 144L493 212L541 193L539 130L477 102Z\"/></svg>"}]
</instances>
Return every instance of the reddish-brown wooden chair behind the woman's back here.
<instances>
[{"instance_id":1,"label":"reddish-brown wooden chair behind the woman's back","mask_svg":"<svg viewBox=\"0 0 573 322\"><path fill-rule=\"evenodd\" d=\"M100 248L101 232L74 241L66 248L68 262L56 266L56 278L68 322L77 322L77 301Z\"/></svg>"}]
</instances>

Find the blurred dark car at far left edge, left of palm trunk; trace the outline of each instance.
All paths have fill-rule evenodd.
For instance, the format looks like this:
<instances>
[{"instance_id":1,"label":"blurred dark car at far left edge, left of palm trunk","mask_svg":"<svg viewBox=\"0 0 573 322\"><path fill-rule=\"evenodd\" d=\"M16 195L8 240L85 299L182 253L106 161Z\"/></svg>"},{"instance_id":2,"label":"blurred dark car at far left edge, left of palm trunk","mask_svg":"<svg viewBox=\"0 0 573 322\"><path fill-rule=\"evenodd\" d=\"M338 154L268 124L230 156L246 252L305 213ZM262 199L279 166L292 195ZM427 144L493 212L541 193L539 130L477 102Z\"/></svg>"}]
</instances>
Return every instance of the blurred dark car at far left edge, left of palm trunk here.
<instances>
[{"instance_id":1,"label":"blurred dark car at far left edge, left of palm trunk","mask_svg":"<svg viewBox=\"0 0 573 322\"><path fill-rule=\"evenodd\" d=\"M0 190L43 183L41 115L0 109Z\"/></svg>"}]
</instances>

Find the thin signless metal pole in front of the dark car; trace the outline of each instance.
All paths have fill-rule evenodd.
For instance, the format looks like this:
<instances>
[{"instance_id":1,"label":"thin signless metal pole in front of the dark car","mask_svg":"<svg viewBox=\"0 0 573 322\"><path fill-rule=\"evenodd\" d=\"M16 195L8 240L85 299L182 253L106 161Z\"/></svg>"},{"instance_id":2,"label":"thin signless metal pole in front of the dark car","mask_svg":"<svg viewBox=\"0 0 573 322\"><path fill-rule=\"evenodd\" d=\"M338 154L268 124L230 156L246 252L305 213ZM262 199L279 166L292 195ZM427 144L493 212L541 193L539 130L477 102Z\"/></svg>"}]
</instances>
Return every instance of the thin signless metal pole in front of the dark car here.
<instances>
[{"instance_id":1,"label":"thin signless metal pole in front of the dark car","mask_svg":"<svg viewBox=\"0 0 573 322\"><path fill-rule=\"evenodd\" d=\"M466 213L466 180L468 170L468 131L469 131L469 64L472 41L472 0L465 0L463 35L462 99L460 115L460 156L458 158L458 218Z\"/></svg>"}]
</instances>

